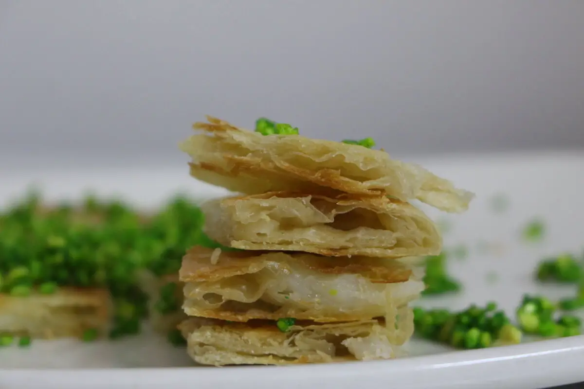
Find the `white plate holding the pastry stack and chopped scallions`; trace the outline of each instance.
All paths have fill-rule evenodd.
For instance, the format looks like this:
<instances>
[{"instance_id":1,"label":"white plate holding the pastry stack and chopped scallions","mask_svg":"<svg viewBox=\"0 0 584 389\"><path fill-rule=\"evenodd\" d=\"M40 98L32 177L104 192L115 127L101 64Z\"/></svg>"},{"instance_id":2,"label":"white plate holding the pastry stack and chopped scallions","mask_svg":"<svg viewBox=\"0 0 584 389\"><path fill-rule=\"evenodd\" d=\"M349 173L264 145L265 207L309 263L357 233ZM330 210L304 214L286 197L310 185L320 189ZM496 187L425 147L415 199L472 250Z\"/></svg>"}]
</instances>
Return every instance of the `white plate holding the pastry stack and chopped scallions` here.
<instances>
[{"instance_id":1,"label":"white plate holding the pastry stack and chopped scallions","mask_svg":"<svg viewBox=\"0 0 584 389\"><path fill-rule=\"evenodd\" d=\"M463 293L424 299L420 304L461 309L470 303L495 300L513 315L523 293L545 293L553 298L574 293L570 286L536 285L532 272L544 255L582 253L584 154L456 156L421 162L474 191L477 198L464 215L428 210L451 225L444 233L445 247L464 244L470 255L450 262L451 273L463 281ZM176 191L199 197L224 193L190 179L182 166L92 171L4 169L0 171L2 205L22 194L32 181L40 184L48 199L75 198L87 188L95 188L98 194L120 194L147 207ZM498 193L509 202L502 213L492 209L493 195ZM536 217L545 221L545 239L524 243L522 228ZM493 274L497 276L494 282L489 281ZM217 369L189 367L192 364L182 349L172 348L150 331L119 342L35 341L30 349L0 349L0 387L538 388L584 381L584 336L473 351L452 351L413 339L409 349L408 358L390 361Z\"/></svg>"}]
</instances>

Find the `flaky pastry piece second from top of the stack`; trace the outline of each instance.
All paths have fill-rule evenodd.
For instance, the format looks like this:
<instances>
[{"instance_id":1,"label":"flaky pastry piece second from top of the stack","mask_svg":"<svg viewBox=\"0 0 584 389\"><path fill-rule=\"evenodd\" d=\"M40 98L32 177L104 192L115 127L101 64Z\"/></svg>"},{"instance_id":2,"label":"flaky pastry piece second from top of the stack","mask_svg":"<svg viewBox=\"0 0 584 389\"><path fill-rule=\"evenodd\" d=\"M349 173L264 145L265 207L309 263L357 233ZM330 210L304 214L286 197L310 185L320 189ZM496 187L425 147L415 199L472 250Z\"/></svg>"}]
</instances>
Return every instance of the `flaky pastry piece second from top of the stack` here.
<instances>
[{"instance_id":1,"label":"flaky pastry piece second from top of the stack","mask_svg":"<svg viewBox=\"0 0 584 389\"><path fill-rule=\"evenodd\" d=\"M211 239L244 250L390 258L437 255L442 249L432 220L386 197L269 192L214 199L201 209Z\"/></svg>"}]
</instances>

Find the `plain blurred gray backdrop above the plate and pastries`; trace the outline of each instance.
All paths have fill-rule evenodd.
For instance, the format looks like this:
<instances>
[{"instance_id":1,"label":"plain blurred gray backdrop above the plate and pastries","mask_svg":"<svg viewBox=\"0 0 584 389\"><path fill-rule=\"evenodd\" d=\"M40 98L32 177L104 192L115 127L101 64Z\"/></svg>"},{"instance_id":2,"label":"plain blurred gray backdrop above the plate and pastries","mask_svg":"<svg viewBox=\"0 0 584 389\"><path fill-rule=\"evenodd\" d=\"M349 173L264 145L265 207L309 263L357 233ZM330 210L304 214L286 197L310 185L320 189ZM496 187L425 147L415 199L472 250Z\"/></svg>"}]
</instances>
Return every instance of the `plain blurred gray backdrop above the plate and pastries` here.
<instances>
[{"instance_id":1,"label":"plain blurred gray backdrop above the plate and pastries","mask_svg":"<svg viewBox=\"0 0 584 389\"><path fill-rule=\"evenodd\" d=\"M0 163L182 163L213 114L394 155L584 146L584 1L0 0Z\"/></svg>"}]
</instances>

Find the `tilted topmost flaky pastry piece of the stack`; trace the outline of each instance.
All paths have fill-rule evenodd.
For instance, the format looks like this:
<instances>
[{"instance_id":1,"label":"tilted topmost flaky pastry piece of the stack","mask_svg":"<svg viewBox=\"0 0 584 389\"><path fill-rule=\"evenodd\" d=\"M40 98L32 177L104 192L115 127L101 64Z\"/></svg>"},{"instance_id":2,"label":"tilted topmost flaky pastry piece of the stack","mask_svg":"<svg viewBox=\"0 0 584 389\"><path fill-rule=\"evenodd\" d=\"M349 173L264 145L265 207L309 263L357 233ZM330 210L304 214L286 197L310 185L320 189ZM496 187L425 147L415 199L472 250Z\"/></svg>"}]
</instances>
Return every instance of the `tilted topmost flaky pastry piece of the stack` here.
<instances>
[{"instance_id":1,"label":"tilted topmost flaky pastry piece of the stack","mask_svg":"<svg viewBox=\"0 0 584 389\"><path fill-rule=\"evenodd\" d=\"M207 117L193 125L180 148L192 157L190 174L234 192L347 192L419 199L436 208L461 212L470 192L415 164L393 160L383 150L310 139L300 135L262 135Z\"/></svg>"}]
</instances>

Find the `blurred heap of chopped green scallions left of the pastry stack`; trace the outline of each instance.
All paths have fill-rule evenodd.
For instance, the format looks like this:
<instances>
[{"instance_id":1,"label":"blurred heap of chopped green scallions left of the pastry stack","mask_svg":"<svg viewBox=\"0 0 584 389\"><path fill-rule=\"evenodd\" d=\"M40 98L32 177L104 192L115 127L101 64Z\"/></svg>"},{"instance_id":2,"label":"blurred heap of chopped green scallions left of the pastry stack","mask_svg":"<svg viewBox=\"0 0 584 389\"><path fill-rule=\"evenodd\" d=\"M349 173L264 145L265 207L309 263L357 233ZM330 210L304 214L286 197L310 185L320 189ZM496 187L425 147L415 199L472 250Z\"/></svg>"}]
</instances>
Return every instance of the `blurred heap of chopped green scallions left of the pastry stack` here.
<instances>
[{"instance_id":1,"label":"blurred heap of chopped green scallions left of the pastry stack","mask_svg":"<svg viewBox=\"0 0 584 389\"><path fill-rule=\"evenodd\" d=\"M137 334L147 317L148 297L137 282L138 269L157 276L176 274L187 248L217 247L202 232L203 213L194 202L176 197L153 215L120 201L88 196L82 204L47 208L37 194L0 214L0 293L26 297L61 287L107 288L114 302L110 338ZM180 309L162 288L162 314ZM167 300L171 299L170 302ZM98 337L89 329L84 341ZM0 334L0 344L12 343ZM21 346L30 338L20 338Z\"/></svg>"}]
</instances>

